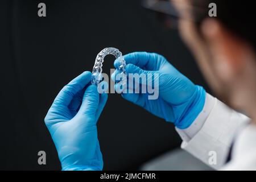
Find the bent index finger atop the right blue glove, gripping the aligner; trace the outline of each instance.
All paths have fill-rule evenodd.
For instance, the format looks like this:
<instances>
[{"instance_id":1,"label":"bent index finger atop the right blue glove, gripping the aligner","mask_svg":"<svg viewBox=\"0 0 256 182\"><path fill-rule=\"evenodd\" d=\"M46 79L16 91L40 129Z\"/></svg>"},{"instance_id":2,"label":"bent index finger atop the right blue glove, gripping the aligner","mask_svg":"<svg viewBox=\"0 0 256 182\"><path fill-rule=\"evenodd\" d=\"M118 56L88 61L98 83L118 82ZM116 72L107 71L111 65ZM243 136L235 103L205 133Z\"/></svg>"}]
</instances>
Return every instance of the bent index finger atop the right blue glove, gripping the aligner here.
<instances>
[{"instance_id":1,"label":"bent index finger atop the right blue glove, gripping the aligner","mask_svg":"<svg viewBox=\"0 0 256 182\"><path fill-rule=\"evenodd\" d=\"M126 61L126 64L134 64L148 71L156 70L159 61L166 60L162 55L148 52L132 52L123 57ZM118 67L118 60L114 61L114 67Z\"/></svg>"}]
</instances>

